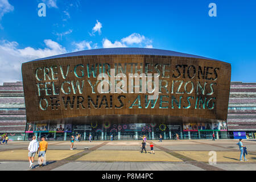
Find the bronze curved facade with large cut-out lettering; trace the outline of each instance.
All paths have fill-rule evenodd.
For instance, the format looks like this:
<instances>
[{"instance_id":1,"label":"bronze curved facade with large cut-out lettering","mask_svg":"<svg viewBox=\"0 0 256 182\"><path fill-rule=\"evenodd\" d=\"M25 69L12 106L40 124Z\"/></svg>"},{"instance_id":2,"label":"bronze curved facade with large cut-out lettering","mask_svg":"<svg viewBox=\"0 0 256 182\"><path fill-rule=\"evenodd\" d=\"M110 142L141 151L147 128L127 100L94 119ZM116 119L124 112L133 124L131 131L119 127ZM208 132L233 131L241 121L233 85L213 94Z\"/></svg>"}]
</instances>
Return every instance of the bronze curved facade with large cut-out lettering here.
<instances>
[{"instance_id":1,"label":"bronze curved facade with large cut-out lettering","mask_svg":"<svg viewBox=\"0 0 256 182\"><path fill-rule=\"evenodd\" d=\"M59 119L74 123L226 121L229 63L171 51L156 55L155 49L126 54L111 50L115 49L109 49L107 54L88 55L90 52L84 51L23 63L27 122ZM136 88L133 93L117 93L117 90L99 93L99 73L111 79L111 71L114 76L118 73L158 74L158 97L150 100L152 93L142 93L144 82L139 85L138 93Z\"/></svg>"}]
</instances>

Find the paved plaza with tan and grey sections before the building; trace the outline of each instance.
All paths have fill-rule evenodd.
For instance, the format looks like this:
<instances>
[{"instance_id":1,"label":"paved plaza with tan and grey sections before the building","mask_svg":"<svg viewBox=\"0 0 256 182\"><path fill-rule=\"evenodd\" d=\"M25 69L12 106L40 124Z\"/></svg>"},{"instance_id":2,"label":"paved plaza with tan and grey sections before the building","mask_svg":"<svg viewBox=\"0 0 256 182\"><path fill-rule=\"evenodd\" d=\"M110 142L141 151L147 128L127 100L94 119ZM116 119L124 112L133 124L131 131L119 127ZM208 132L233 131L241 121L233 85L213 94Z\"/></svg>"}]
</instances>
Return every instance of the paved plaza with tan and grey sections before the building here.
<instances>
[{"instance_id":1,"label":"paved plaza with tan and grey sections before the building","mask_svg":"<svg viewBox=\"0 0 256 182\"><path fill-rule=\"evenodd\" d=\"M151 141L148 141L151 142ZM0 170L10 171L256 171L256 140L243 140L247 162L240 162L238 140L152 140L155 154L141 153L141 141L48 142L47 165L28 168L29 142L9 142L0 146ZM210 151L216 152L217 164L209 164Z\"/></svg>"}]
</instances>

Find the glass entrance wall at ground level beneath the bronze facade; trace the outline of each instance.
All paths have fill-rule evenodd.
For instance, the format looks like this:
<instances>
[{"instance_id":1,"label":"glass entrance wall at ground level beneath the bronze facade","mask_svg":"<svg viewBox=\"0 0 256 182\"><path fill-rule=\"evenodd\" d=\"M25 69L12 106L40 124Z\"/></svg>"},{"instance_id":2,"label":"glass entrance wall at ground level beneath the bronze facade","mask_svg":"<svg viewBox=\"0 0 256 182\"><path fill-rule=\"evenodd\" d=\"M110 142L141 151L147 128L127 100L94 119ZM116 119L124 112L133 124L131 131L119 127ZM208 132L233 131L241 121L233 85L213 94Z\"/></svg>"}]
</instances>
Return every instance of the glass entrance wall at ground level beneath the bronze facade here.
<instances>
[{"instance_id":1,"label":"glass entrance wall at ground level beneath the bronze facade","mask_svg":"<svg viewBox=\"0 0 256 182\"><path fill-rule=\"evenodd\" d=\"M33 135L38 138L47 137L47 140L71 140L71 136L81 135L80 140L89 140L89 135L92 136L92 140L142 140L143 135L147 140L159 140L162 135L163 140L175 140L176 134L179 139L212 139L214 132L216 139L228 138L227 131L219 130L196 130L195 125L187 124L184 126L179 123L130 123L130 124L118 124L118 123L104 123L97 124L91 123L90 125L64 125L62 128L68 126L69 129L64 131L34 131L34 133L27 133L26 140L31 140ZM200 124L200 129L204 125ZM188 128L187 128L188 127ZM191 127L191 130L189 130ZM48 128L45 126L44 128ZM58 127L57 127L58 128ZM209 129L209 126L207 127ZM53 129L52 129L53 130Z\"/></svg>"}]
</instances>

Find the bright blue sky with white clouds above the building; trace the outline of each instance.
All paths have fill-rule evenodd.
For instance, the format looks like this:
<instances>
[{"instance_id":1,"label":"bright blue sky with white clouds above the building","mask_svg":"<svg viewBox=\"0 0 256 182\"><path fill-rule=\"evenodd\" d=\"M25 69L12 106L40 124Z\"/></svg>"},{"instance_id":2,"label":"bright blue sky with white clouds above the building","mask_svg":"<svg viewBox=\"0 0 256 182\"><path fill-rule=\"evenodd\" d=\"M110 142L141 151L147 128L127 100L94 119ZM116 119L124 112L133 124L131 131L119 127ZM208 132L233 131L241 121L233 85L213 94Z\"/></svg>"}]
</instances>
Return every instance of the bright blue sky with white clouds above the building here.
<instances>
[{"instance_id":1,"label":"bright blue sky with white clouds above the building","mask_svg":"<svg viewBox=\"0 0 256 182\"><path fill-rule=\"evenodd\" d=\"M46 17L38 16L41 2ZM216 17L208 15L212 2ZM22 80L23 62L104 47L210 57L232 65L232 81L256 82L255 7L254 0L0 0L0 84Z\"/></svg>"}]
</instances>

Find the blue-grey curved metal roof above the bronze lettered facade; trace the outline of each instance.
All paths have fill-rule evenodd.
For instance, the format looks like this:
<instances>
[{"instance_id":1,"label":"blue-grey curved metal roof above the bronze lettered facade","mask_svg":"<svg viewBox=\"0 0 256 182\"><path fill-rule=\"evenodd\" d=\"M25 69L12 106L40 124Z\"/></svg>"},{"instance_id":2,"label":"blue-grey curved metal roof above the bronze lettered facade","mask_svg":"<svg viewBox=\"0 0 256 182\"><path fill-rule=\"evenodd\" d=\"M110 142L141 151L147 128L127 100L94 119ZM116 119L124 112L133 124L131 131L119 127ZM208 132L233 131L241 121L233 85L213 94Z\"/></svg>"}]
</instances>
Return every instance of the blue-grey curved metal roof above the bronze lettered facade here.
<instances>
[{"instance_id":1,"label":"blue-grey curved metal roof above the bronze lettered facade","mask_svg":"<svg viewBox=\"0 0 256 182\"><path fill-rule=\"evenodd\" d=\"M158 56L179 56L179 57L193 57L199 59L210 59L207 57L190 55L187 53L168 51L163 49L153 49L153 48L101 48L101 49L90 49L78 52L64 53L63 55L50 56L45 58L40 58L32 61L54 59L60 57L71 57L71 56L92 56L92 55L158 55Z\"/></svg>"}]
</instances>

